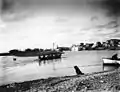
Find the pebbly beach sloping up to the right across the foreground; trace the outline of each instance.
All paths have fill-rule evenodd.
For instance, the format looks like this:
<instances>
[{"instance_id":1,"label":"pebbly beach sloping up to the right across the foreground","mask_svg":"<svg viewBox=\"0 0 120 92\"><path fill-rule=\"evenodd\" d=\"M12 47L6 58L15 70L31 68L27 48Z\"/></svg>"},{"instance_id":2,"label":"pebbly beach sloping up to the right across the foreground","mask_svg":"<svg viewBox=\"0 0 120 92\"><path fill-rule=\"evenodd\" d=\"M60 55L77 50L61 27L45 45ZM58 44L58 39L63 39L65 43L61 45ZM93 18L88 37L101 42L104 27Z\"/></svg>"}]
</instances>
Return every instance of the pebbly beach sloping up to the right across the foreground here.
<instances>
[{"instance_id":1,"label":"pebbly beach sloping up to the right across the foreground","mask_svg":"<svg viewBox=\"0 0 120 92\"><path fill-rule=\"evenodd\" d=\"M53 77L0 86L0 92L118 92L120 68L112 71Z\"/></svg>"}]
</instances>

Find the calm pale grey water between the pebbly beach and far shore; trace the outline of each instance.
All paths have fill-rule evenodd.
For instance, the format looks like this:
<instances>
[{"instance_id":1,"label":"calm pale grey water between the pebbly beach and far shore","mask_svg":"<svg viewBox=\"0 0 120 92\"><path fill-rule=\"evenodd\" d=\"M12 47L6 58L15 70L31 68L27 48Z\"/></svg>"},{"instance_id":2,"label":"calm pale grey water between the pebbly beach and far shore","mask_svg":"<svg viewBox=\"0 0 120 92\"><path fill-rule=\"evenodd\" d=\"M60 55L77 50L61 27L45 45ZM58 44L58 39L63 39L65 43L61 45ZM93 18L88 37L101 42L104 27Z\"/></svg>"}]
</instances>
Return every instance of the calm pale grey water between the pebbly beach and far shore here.
<instances>
[{"instance_id":1,"label":"calm pale grey water between the pebbly beach and far shore","mask_svg":"<svg viewBox=\"0 0 120 92\"><path fill-rule=\"evenodd\" d=\"M0 85L33 79L75 75L74 65L79 66L84 73L99 72L115 69L103 66L102 58L111 57L120 51L80 51L66 52L62 59L38 61L34 58L20 58L13 61L13 57L0 57Z\"/></svg>"}]
</instances>

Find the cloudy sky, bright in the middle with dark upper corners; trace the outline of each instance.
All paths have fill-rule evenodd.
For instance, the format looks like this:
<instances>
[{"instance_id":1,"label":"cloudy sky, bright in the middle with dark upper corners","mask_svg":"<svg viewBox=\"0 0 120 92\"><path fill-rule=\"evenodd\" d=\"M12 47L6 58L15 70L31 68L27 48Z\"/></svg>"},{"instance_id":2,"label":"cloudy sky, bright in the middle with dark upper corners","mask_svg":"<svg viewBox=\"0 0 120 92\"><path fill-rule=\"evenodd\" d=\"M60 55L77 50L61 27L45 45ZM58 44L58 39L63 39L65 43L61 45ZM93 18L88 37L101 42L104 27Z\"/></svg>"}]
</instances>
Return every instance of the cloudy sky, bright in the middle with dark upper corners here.
<instances>
[{"instance_id":1,"label":"cloudy sky, bright in the middle with dark upper corners","mask_svg":"<svg viewBox=\"0 0 120 92\"><path fill-rule=\"evenodd\" d=\"M118 0L1 0L0 52L120 38Z\"/></svg>"}]
</instances>

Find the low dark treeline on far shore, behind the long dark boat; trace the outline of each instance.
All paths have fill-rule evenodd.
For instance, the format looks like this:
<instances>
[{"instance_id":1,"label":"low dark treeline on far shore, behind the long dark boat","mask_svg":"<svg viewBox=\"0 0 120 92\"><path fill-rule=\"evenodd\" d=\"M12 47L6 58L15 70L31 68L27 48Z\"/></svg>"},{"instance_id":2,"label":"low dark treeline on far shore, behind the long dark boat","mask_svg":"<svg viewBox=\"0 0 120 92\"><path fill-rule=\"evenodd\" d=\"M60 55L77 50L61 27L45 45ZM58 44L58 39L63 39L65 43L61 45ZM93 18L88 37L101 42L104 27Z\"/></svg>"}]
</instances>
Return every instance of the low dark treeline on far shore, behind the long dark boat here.
<instances>
[{"instance_id":1,"label":"low dark treeline on far shore, behind the long dark boat","mask_svg":"<svg viewBox=\"0 0 120 92\"><path fill-rule=\"evenodd\" d=\"M68 51L68 50L70 50L70 48L68 47L57 47L56 49L39 49L39 48L34 48L34 49L27 48L25 50L12 49L8 51L8 53L0 53L0 56L9 56L9 55L39 56L41 54L55 54L55 53L63 54L63 51Z\"/></svg>"}]
</instances>

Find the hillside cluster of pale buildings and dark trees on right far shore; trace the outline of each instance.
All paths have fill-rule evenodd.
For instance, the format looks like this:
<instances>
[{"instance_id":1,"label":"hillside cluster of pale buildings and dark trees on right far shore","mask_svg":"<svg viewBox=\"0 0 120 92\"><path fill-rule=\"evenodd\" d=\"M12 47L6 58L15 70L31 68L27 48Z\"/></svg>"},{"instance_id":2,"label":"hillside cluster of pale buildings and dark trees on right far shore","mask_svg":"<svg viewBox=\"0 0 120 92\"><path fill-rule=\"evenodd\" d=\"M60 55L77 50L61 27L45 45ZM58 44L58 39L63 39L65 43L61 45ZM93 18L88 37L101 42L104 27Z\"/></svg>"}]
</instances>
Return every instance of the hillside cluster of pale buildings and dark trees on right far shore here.
<instances>
[{"instance_id":1,"label":"hillside cluster of pale buildings and dark trees on right far shore","mask_svg":"<svg viewBox=\"0 0 120 92\"><path fill-rule=\"evenodd\" d=\"M74 44L71 47L71 51L81 50L120 50L120 39L110 39L106 42L96 43L80 43Z\"/></svg>"}]
</instances>

